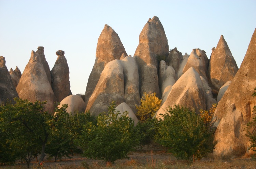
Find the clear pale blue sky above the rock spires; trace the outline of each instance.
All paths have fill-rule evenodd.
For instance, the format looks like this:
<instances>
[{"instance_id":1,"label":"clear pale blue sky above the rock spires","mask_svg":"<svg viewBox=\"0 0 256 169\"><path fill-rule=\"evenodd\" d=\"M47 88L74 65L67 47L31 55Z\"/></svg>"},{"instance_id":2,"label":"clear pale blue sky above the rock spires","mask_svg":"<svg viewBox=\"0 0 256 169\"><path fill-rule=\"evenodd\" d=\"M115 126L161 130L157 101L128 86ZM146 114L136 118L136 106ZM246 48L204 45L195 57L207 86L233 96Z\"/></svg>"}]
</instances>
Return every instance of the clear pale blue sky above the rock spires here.
<instances>
[{"instance_id":1,"label":"clear pale blue sky above the rock spires","mask_svg":"<svg viewBox=\"0 0 256 169\"><path fill-rule=\"evenodd\" d=\"M85 93L104 24L119 35L134 55L148 18L159 17L169 48L184 55L211 49L221 35L238 67L256 27L256 0L0 0L0 55L6 66L24 71L31 51L44 46L50 69L57 50L65 51L73 94Z\"/></svg>"}]
</instances>

